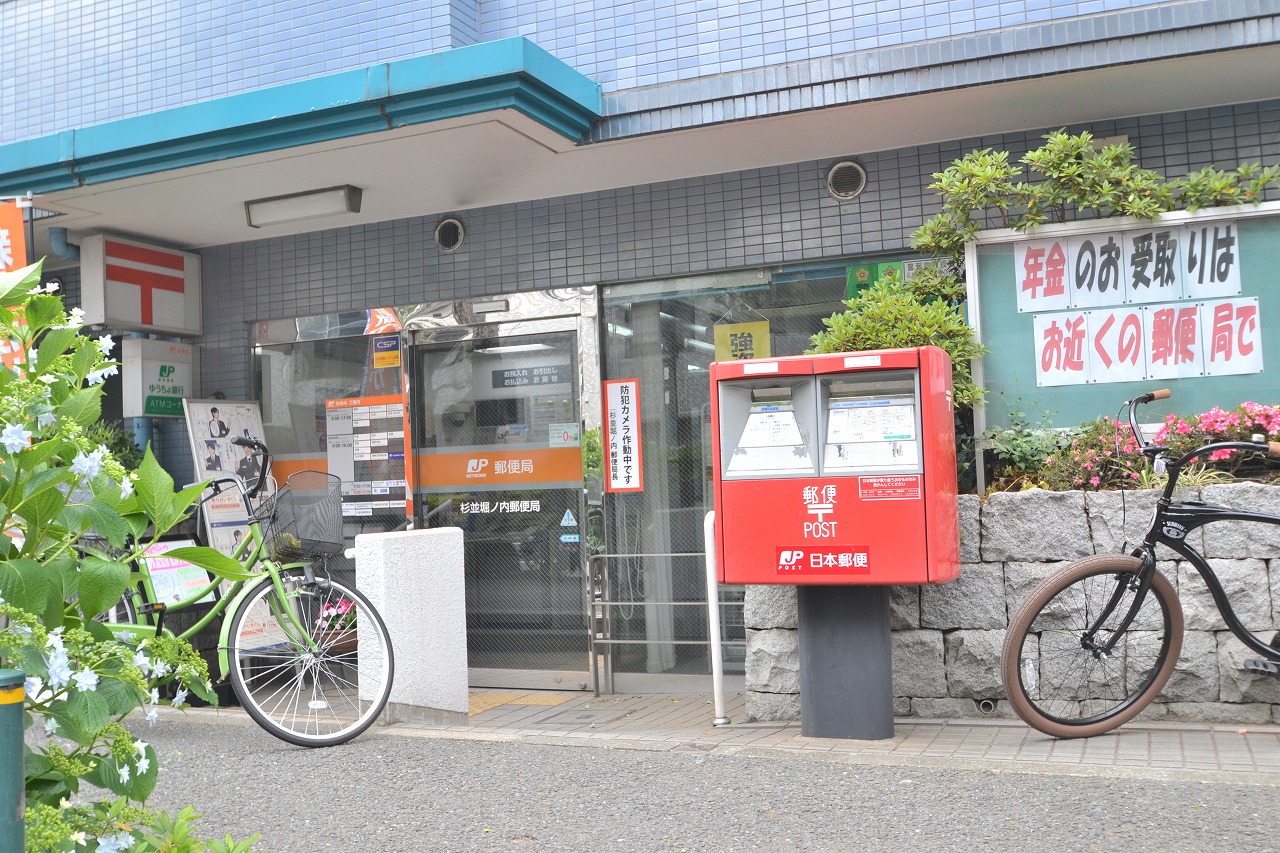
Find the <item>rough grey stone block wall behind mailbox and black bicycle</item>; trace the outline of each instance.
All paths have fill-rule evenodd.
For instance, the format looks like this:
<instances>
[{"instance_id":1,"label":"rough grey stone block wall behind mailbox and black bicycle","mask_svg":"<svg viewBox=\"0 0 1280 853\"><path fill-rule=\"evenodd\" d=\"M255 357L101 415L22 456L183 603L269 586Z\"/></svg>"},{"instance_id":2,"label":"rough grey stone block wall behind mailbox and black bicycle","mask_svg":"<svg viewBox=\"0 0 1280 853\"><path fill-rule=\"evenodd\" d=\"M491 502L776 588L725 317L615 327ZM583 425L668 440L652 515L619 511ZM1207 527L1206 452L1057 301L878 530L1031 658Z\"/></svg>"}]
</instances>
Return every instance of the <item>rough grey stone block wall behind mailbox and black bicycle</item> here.
<instances>
[{"instance_id":1,"label":"rough grey stone block wall behind mailbox and black bicycle","mask_svg":"<svg viewBox=\"0 0 1280 853\"><path fill-rule=\"evenodd\" d=\"M1010 613L1053 570L1092 553L1126 551L1151 523L1157 492L996 493L960 497L960 578L895 587L890 613L893 712L919 717L1012 716L1000 683ZM1183 500L1188 496L1183 494ZM1280 487L1210 485L1201 500L1280 515ZM1208 558L1243 622L1270 642L1280 630L1280 528L1219 523L1190 540ZM1199 574L1165 551L1185 637L1178 669L1147 720L1280 724L1280 679L1242 669L1251 653L1229 630ZM800 657L795 587L749 587L746 712L797 720Z\"/></svg>"}]
</instances>

